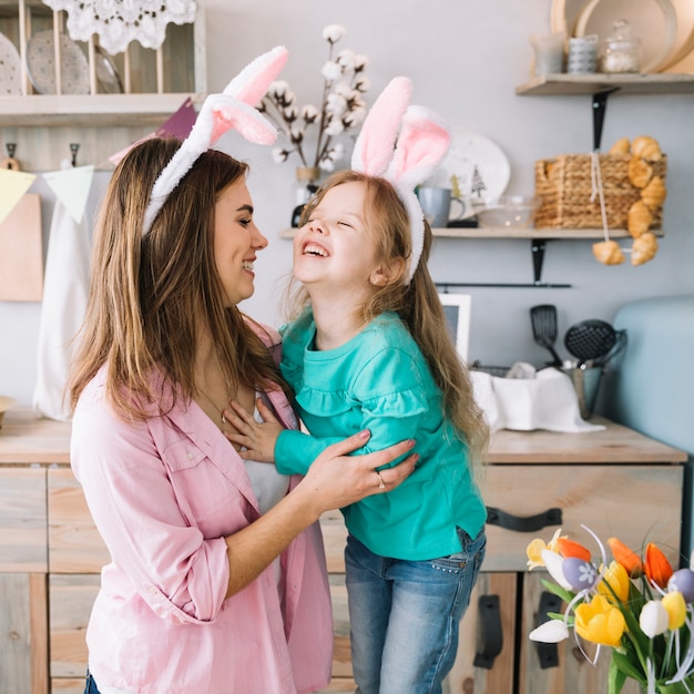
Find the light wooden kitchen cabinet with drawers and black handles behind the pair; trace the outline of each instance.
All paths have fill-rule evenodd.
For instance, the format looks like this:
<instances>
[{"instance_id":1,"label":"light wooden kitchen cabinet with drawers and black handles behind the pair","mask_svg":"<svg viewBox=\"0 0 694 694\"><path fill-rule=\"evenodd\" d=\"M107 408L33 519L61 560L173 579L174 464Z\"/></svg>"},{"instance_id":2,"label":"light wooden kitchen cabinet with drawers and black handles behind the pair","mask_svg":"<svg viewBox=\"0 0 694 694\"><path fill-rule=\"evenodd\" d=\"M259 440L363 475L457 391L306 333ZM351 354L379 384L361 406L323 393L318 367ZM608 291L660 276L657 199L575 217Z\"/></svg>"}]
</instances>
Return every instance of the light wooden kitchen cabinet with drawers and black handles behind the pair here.
<instances>
[{"instance_id":1,"label":"light wooden kitchen cabinet with drawers and black handles behind the pair","mask_svg":"<svg viewBox=\"0 0 694 694\"><path fill-rule=\"evenodd\" d=\"M601 420L594 420L601 421ZM655 541L677 563L686 455L611 422L604 431L498 431L483 493L487 559L460 625L447 694L586 694L606 691L609 653L594 669L573 641L549 657L528 640L541 618L542 572L525 547L559 527L590 545L581 523L633 548ZM0 692L81 694L84 633L109 554L69 467L70 426L10 410L0 431ZM544 516L547 527L502 524ZM338 511L322 519L335 621L333 681L354 692ZM558 610L558 608L553 608ZM542 620L543 621L543 620ZM541 654L542 653L542 654ZM623 690L637 694L637 690Z\"/></svg>"}]
</instances>

